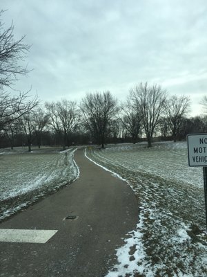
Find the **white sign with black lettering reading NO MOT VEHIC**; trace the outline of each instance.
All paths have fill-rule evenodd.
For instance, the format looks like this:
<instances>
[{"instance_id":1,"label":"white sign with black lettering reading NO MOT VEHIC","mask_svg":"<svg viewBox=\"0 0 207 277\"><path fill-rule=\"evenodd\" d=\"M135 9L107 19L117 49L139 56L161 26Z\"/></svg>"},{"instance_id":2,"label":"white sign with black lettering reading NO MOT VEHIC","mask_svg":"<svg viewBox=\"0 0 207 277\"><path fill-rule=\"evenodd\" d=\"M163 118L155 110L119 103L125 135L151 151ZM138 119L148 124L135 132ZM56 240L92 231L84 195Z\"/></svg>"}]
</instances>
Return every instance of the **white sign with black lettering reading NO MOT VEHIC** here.
<instances>
[{"instance_id":1,"label":"white sign with black lettering reading NO MOT VEHIC","mask_svg":"<svg viewBox=\"0 0 207 277\"><path fill-rule=\"evenodd\" d=\"M207 166L207 134L188 134L188 165Z\"/></svg>"}]
</instances>

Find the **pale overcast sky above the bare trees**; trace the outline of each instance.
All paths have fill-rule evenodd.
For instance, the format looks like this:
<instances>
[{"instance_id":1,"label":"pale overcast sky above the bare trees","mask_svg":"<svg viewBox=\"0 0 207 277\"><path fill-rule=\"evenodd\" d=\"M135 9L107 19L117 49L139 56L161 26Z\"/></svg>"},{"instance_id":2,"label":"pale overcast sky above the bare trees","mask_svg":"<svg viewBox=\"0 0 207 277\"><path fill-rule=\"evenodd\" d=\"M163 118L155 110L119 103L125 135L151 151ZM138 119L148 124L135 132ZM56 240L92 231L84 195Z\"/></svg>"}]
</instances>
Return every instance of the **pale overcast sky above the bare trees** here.
<instances>
[{"instance_id":1,"label":"pale overcast sky above the bare trees","mask_svg":"<svg viewBox=\"0 0 207 277\"><path fill-rule=\"evenodd\" d=\"M5 27L26 35L28 77L15 89L41 100L81 100L109 90L124 100L139 82L190 96L207 94L206 0L1 0Z\"/></svg>"}]
</instances>

